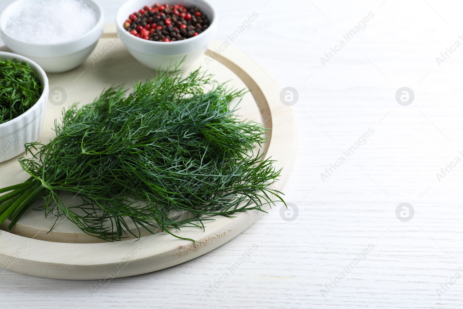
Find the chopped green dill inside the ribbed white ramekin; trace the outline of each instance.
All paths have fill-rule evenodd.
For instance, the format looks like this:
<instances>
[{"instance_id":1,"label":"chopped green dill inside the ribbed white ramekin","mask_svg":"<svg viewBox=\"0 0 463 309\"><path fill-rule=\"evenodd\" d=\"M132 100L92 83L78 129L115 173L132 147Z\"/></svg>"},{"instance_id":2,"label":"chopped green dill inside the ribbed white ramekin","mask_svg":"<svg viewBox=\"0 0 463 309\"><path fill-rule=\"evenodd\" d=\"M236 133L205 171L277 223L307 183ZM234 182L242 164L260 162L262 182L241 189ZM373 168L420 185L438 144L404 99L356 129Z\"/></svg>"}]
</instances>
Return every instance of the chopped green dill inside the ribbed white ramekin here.
<instances>
[{"instance_id":1,"label":"chopped green dill inside the ribbed white ramekin","mask_svg":"<svg viewBox=\"0 0 463 309\"><path fill-rule=\"evenodd\" d=\"M31 108L42 95L43 88L29 64L0 59L0 123Z\"/></svg>"}]
</instances>

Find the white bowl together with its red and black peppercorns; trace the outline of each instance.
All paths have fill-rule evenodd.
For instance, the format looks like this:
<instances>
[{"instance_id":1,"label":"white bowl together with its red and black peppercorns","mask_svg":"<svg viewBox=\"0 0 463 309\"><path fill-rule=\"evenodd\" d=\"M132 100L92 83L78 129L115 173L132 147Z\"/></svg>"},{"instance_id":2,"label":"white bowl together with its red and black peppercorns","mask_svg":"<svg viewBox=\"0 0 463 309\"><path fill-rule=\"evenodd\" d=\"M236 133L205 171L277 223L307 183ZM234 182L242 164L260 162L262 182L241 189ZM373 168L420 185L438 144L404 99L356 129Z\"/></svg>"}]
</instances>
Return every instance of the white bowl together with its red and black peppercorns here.
<instances>
[{"instance_id":1,"label":"white bowl together with its red and black peppercorns","mask_svg":"<svg viewBox=\"0 0 463 309\"><path fill-rule=\"evenodd\" d=\"M164 4L129 0L116 12L121 41L150 69L188 67L207 50L217 33L217 12L205 0L173 0Z\"/></svg>"}]
</instances>

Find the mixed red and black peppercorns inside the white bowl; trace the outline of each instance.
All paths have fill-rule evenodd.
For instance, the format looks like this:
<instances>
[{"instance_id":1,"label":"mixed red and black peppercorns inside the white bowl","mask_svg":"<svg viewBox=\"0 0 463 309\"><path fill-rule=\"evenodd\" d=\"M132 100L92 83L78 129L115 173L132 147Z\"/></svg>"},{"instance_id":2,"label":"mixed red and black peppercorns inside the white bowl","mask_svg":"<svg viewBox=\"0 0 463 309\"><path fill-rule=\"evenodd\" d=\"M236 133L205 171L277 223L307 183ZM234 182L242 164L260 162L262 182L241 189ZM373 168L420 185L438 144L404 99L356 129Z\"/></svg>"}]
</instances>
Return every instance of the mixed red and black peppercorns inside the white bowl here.
<instances>
[{"instance_id":1,"label":"mixed red and black peppercorns inside the white bowl","mask_svg":"<svg viewBox=\"0 0 463 309\"><path fill-rule=\"evenodd\" d=\"M209 27L207 16L196 6L155 4L134 12L124 22L132 35L150 41L174 42L192 38Z\"/></svg>"}]
</instances>

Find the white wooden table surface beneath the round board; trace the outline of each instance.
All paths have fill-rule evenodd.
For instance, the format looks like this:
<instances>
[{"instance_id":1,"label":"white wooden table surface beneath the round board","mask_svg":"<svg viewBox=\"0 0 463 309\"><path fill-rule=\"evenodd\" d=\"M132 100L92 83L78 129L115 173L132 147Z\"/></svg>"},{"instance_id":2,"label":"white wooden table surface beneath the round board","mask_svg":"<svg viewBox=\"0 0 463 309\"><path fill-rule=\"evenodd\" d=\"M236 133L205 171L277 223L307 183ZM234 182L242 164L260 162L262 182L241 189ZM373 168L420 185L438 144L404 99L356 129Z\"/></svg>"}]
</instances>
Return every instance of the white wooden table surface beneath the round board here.
<instances>
[{"instance_id":1,"label":"white wooden table surface beneath the round board","mask_svg":"<svg viewBox=\"0 0 463 309\"><path fill-rule=\"evenodd\" d=\"M108 21L121 2L100 0ZM285 188L298 214L278 207L218 249L138 277L5 271L0 308L463 308L463 163L452 163L463 159L463 46L452 47L463 44L462 3L213 2L221 40L259 14L233 46L299 92L298 158ZM330 48L338 51L327 58ZM401 87L413 90L408 106L395 99ZM456 166L444 175L447 164ZM409 221L396 216L404 202Z\"/></svg>"}]
</instances>

